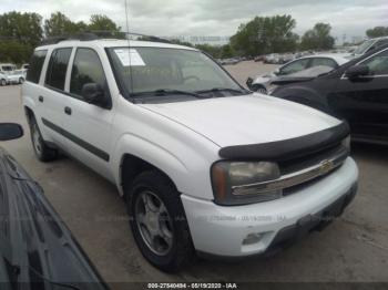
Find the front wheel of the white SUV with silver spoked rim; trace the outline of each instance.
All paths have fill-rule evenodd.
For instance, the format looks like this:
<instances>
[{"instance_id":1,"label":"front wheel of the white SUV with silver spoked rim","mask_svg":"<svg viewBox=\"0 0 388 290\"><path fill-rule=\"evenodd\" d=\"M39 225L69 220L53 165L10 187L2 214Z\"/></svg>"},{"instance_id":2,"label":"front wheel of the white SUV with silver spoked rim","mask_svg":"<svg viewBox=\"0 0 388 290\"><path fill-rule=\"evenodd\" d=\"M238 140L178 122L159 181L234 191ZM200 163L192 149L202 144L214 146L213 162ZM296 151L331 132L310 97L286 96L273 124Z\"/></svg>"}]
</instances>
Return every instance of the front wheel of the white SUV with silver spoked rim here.
<instances>
[{"instance_id":1,"label":"front wheel of the white SUV with silver spoked rim","mask_svg":"<svg viewBox=\"0 0 388 290\"><path fill-rule=\"evenodd\" d=\"M163 174L139 175L126 194L130 225L143 257L166 272L185 265L194 250L183 205Z\"/></svg>"}]
</instances>

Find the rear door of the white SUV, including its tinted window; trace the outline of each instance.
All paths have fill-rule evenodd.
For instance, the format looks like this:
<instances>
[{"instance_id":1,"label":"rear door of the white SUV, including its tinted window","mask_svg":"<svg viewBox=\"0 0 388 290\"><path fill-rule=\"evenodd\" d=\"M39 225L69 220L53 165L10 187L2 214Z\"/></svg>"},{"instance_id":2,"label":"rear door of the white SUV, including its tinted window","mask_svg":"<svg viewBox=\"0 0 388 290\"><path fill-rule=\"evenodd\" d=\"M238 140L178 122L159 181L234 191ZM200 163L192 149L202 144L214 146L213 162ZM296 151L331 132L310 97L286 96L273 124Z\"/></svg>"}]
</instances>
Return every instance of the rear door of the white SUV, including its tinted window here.
<instances>
[{"instance_id":1,"label":"rear door of the white SUV, including its tinted window","mask_svg":"<svg viewBox=\"0 0 388 290\"><path fill-rule=\"evenodd\" d=\"M44 86L39 94L39 106L43 131L49 139L61 148L65 148L62 134L64 107L69 104L69 96L64 94L65 77L72 48L54 49L51 53ZM42 127L40 127L42 130Z\"/></svg>"}]
</instances>

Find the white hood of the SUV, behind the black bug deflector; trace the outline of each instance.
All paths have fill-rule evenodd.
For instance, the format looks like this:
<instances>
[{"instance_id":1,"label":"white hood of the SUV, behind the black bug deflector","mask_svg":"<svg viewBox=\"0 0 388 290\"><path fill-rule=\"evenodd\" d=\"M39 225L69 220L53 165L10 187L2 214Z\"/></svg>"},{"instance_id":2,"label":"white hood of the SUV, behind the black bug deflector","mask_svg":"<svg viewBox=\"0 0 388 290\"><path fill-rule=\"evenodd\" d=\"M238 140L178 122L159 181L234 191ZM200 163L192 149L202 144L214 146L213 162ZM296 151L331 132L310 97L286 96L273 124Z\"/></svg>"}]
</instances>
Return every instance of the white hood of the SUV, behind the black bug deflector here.
<instances>
[{"instance_id":1,"label":"white hood of the SUV, behind the black bug deflector","mask_svg":"<svg viewBox=\"0 0 388 290\"><path fill-rule=\"evenodd\" d=\"M256 93L141 106L183 124L219 147L295 138L340 123L314 108Z\"/></svg>"}]
</instances>

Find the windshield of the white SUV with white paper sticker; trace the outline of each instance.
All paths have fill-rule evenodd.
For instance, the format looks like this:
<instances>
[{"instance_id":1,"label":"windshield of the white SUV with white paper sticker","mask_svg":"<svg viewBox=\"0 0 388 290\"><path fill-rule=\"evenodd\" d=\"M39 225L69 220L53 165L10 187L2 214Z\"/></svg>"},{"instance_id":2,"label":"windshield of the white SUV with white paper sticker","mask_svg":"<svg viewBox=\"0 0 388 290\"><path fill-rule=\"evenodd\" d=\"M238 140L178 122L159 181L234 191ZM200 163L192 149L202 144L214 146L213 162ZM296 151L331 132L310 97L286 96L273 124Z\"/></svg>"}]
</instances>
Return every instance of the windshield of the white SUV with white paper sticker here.
<instances>
[{"instance_id":1,"label":"windshield of the white SUV with white paper sticker","mask_svg":"<svg viewBox=\"0 0 388 290\"><path fill-rule=\"evenodd\" d=\"M125 96L161 90L175 93L242 90L217 63L198 51L163 48L112 48L108 51Z\"/></svg>"}]
</instances>

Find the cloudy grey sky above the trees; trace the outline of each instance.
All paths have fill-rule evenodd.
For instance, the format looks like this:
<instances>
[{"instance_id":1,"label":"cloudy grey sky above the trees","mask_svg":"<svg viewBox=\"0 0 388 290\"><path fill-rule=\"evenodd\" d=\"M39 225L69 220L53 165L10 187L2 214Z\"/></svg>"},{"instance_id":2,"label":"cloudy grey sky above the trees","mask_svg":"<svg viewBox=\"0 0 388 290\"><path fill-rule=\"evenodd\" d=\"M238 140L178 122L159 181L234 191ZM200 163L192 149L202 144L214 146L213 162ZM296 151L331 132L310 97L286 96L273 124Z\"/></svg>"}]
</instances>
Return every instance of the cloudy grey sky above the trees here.
<instances>
[{"instance_id":1,"label":"cloudy grey sky above the trees","mask_svg":"<svg viewBox=\"0 0 388 290\"><path fill-rule=\"evenodd\" d=\"M387 0L127 0L130 31L144 34L232 35L255 15L292 14L302 34L316 22L329 22L339 40L365 35L376 25L388 27ZM104 13L125 29L124 0L0 0L0 13L34 11L49 18L54 11L73 21Z\"/></svg>"}]
</instances>

